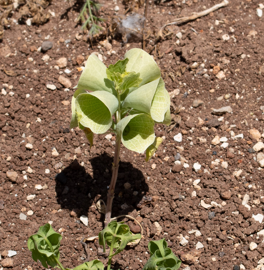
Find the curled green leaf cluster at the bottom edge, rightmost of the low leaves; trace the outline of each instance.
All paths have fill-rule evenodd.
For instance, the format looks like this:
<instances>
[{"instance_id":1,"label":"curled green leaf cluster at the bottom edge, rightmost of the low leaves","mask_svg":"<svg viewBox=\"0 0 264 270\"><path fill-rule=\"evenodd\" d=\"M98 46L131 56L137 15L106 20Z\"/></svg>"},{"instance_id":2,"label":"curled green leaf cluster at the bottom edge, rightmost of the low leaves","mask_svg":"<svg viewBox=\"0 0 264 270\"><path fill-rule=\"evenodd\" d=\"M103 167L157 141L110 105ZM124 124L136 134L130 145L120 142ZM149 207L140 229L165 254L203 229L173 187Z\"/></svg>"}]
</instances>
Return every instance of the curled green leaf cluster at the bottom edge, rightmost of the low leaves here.
<instances>
[{"instance_id":1,"label":"curled green leaf cluster at the bottom edge, rightmost of the low leaves","mask_svg":"<svg viewBox=\"0 0 264 270\"><path fill-rule=\"evenodd\" d=\"M158 241L150 241L148 249L150 250L151 257L142 270L177 270L180 268L181 260L168 248L165 238Z\"/></svg>"}]
</instances>

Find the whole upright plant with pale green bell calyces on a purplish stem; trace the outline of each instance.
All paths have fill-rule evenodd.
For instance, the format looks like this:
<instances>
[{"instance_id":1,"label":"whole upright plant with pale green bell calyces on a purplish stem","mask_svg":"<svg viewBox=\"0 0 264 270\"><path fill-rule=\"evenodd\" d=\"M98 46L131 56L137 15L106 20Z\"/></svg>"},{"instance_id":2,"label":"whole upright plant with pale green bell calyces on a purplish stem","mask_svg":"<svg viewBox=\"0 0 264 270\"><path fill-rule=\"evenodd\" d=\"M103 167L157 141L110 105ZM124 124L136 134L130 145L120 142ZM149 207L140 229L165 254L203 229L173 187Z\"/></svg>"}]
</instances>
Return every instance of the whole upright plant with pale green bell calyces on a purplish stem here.
<instances>
[{"instance_id":1,"label":"whole upright plant with pale green bell calyces on a purplish stem","mask_svg":"<svg viewBox=\"0 0 264 270\"><path fill-rule=\"evenodd\" d=\"M116 134L104 221L107 226L111 220L120 144L137 153L145 151L145 161L150 160L162 142L160 137L155 137L154 124L168 126L171 122L170 96L157 63L137 48L129 50L124 60L108 68L96 55L90 55L75 88L70 128L79 126L90 147L94 133Z\"/></svg>"}]
</instances>

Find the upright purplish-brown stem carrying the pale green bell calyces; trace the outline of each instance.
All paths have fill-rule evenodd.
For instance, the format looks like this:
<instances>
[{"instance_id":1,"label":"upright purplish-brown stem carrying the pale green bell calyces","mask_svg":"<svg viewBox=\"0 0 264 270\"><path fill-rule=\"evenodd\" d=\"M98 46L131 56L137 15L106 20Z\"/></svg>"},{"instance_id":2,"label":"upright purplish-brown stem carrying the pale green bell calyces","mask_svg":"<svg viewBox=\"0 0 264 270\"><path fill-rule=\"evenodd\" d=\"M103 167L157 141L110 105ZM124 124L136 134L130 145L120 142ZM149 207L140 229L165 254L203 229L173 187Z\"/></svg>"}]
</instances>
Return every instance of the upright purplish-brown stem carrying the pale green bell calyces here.
<instances>
[{"instance_id":1,"label":"upright purplish-brown stem carrying the pale green bell calyces","mask_svg":"<svg viewBox=\"0 0 264 270\"><path fill-rule=\"evenodd\" d=\"M116 124L121 120L121 101L120 95L117 95L118 99L118 111L117 111L117 119ZM116 186L117 174L118 174L118 167L119 167L119 153L120 153L120 145L121 145L121 138L116 135L116 147L114 150L114 162L112 163L112 178L110 187L107 194L107 203L106 203L106 215L104 219L104 227L111 221L111 212L112 212L112 203L114 199L114 189Z\"/></svg>"}]
</instances>

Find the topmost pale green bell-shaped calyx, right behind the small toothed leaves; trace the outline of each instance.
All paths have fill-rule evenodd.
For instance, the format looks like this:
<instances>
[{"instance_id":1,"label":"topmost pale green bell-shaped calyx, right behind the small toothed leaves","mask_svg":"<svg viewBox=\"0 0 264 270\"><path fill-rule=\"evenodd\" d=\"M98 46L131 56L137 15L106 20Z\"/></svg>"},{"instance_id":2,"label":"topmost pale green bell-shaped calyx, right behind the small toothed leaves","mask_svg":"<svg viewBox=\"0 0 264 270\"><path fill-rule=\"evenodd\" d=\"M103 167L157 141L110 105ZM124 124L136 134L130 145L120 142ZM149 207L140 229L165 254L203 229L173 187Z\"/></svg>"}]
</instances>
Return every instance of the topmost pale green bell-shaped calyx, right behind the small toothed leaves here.
<instances>
[{"instance_id":1,"label":"topmost pale green bell-shaped calyx, right behind the small toothed leaves","mask_svg":"<svg viewBox=\"0 0 264 270\"><path fill-rule=\"evenodd\" d=\"M160 69L155 60L144 50L134 48L126 52L124 58L128 58L127 72L140 73L141 85L158 79L161 76ZM130 90L131 92L131 90Z\"/></svg>"}]
</instances>

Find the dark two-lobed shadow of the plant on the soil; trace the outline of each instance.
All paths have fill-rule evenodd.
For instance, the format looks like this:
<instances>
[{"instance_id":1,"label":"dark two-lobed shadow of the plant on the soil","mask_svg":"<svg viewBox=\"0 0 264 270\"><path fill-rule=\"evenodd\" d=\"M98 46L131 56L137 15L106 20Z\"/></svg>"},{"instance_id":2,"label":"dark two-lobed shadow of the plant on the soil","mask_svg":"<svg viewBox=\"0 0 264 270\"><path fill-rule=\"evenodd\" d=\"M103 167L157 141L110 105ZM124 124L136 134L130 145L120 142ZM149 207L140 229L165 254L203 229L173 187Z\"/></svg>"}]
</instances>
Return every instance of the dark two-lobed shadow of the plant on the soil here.
<instances>
[{"instance_id":1,"label":"dark two-lobed shadow of the plant on the soil","mask_svg":"<svg viewBox=\"0 0 264 270\"><path fill-rule=\"evenodd\" d=\"M103 153L89 161L90 173L75 159L55 177L57 203L62 208L77 211L78 215L87 215L89 207L99 199L107 201L113 158ZM142 172L130 162L120 161L112 217L135 210L147 191Z\"/></svg>"}]
</instances>

